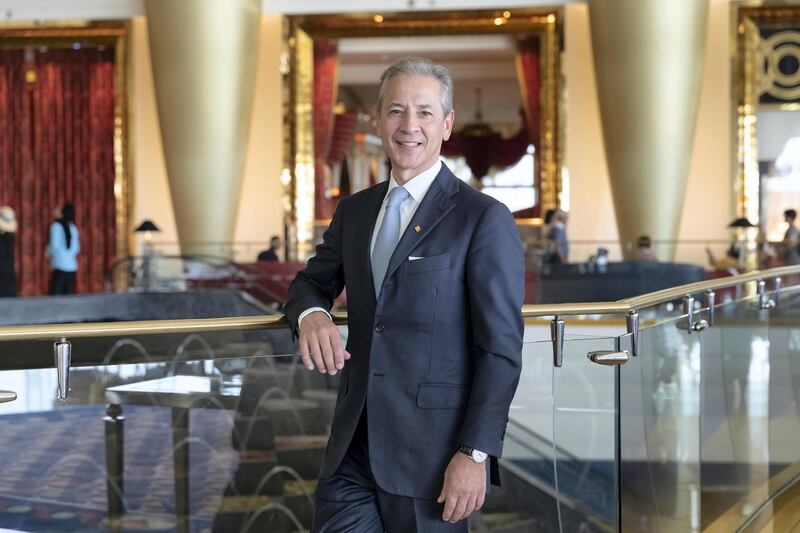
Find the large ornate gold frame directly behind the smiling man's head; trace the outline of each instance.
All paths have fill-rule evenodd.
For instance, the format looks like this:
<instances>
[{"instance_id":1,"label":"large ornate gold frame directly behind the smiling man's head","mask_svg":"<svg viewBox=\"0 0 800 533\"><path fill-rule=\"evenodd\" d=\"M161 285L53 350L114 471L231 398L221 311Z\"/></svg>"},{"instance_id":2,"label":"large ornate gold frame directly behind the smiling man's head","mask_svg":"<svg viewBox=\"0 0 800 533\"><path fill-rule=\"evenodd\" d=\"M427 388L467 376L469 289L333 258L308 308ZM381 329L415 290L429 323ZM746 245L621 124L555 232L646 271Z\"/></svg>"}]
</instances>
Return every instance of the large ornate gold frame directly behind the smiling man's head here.
<instances>
[{"instance_id":1,"label":"large ornate gold frame directly behind the smiling man's head","mask_svg":"<svg viewBox=\"0 0 800 533\"><path fill-rule=\"evenodd\" d=\"M510 16L504 16L510 13ZM511 9L458 12L313 15L287 18L288 72L284 77L284 221L289 256L305 259L314 235L314 157L311 126L313 40L513 33L537 35L542 43L541 209L558 206L563 160L560 117L562 10ZM377 80L376 80L377 83Z\"/></svg>"}]
</instances>

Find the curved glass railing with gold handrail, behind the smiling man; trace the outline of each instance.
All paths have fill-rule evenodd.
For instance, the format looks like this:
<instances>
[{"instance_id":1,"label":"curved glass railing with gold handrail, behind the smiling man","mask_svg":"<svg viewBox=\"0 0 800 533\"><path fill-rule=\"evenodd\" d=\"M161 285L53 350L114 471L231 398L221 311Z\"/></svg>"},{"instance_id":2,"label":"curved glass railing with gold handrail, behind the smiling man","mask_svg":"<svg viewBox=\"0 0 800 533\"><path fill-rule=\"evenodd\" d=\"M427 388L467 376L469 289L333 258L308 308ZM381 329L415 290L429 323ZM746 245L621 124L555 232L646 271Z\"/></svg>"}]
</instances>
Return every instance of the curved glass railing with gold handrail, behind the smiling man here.
<instances>
[{"instance_id":1,"label":"curved glass railing with gold handrail, behind the smiling man","mask_svg":"<svg viewBox=\"0 0 800 533\"><path fill-rule=\"evenodd\" d=\"M526 306L503 486L471 530L769 520L800 479L799 279ZM281 316L0 328L0 529L308 530L340 377L295 354Z\"/></svg>"}]
</instances>

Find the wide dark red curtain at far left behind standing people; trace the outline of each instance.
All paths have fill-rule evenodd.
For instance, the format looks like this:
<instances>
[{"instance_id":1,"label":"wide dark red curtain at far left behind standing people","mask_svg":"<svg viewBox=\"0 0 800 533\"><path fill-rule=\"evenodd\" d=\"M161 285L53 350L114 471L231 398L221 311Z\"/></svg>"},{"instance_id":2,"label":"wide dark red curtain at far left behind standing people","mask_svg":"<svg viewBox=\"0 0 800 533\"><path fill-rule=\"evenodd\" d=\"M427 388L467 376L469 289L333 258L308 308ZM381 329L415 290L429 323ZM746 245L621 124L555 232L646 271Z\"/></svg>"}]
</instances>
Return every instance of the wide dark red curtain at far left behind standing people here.
<instances>
[{"instance_id":1,"label":"wide dark red curtain at far left behind standing people","mask_svg":"<svg viewBox=\"0 0 800 533\"><path fill-rule=\"evenodd\" d=\"M27 81L26 81L27 73ZM20 294L46 294L53 209L75 204L77 290L103 290L116 247L114 51L0 51L0 204L17 212Z\"/></svg>"}]
</instances>

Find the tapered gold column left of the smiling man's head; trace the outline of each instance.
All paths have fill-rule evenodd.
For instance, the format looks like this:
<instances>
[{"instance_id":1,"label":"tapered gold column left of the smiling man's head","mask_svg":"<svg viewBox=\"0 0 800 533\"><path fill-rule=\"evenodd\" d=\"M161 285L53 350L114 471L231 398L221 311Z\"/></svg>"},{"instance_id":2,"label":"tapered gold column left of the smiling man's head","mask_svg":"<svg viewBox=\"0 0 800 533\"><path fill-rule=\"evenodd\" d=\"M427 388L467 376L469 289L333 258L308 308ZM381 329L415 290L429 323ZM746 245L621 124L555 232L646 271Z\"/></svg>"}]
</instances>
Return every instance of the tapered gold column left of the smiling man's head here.
<instances>
[{"instance_id":1,"label":"tapered gold column left of the smiling man's head","mask_svg":"<svg viewBox=\"0 0 800 533\"><path fill-rule=\"evenodd\" d=\"M208 253L201 243L233 240L261 2L145 0L145 9L181 250Z\"/></svg>"}]
</instances>

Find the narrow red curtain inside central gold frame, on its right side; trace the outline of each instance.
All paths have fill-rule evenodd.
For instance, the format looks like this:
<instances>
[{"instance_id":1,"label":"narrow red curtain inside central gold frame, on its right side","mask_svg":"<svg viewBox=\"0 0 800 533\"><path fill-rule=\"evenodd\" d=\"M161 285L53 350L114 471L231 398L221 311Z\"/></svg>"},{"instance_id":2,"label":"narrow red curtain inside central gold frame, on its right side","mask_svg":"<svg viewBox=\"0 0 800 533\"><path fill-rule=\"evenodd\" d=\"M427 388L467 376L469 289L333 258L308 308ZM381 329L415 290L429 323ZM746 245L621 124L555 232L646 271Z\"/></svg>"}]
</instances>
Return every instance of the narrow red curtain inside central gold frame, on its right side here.
<instances>
[{"instance_id":1,"label":"narrow red curtain inside central gold frame, on its right side","mask_svg":"<svg viewBox=\"0 0 800 533\"><path fill-rule=\"evenodd\" d=\"M522 108L525 122L530 132L531 143L536 149L534 157L534 183L536 184L536 205L526 216L541 215L542 180L539 175L539 154L541 147L541 73L539 65L539 37L519 37L517 39L517 79L522 95Z\"/></svg>"}]
</instances>

